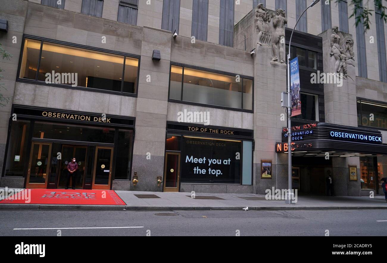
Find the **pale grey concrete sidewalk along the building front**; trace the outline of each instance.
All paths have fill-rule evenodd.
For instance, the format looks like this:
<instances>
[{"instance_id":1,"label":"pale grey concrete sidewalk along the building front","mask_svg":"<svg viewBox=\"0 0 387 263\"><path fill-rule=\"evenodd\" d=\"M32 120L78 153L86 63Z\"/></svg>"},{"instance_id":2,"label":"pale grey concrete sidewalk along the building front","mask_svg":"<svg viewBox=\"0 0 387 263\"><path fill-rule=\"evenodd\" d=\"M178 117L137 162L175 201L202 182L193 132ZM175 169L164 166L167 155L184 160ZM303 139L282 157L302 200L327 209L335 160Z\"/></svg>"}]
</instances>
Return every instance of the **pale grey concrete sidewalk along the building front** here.
<instances>
[{"instance_id":1,"label":"pale grey concrete sidewalk along the building front","mask_svg":"<svg viewBox=\"0 0 387 263\"><path fill-rule=\"evenodd\" d=\"M194 199L191 198L190 193L115 192L127 204L126 206L0 204L0 209L242 210L246 206L248 210L387 209L384 196L375 196L375 198L368 196L298 196L296 205L287 205L284 200L266 200L264 195L257 194L196 193ZM159 198L139 198L135 194L156 195Z\"/></svg>"}]
</instances>

